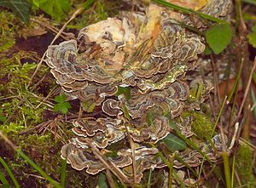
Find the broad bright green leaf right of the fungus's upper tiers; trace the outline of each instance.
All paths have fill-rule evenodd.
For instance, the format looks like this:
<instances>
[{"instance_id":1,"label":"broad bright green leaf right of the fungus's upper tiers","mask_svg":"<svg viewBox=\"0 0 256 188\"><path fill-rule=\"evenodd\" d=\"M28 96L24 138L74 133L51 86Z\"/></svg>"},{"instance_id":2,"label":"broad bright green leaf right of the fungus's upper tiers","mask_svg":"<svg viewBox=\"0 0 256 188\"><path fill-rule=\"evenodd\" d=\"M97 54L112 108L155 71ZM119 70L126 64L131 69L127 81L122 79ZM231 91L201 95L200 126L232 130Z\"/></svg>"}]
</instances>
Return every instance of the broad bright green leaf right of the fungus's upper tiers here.
<instances>
[{"instance_id":1,"label":"broad bright green leaf right of the fungus's upper tiers","mask_svg":"<svg viewBox=\"0 0 256 188\"><path fill-rule=\"evenodd\" d=\"M206 31L206 38L214 54L219 54L231 42L232 28L229 24L217 24Z\"/></svg>"}]
</instances>

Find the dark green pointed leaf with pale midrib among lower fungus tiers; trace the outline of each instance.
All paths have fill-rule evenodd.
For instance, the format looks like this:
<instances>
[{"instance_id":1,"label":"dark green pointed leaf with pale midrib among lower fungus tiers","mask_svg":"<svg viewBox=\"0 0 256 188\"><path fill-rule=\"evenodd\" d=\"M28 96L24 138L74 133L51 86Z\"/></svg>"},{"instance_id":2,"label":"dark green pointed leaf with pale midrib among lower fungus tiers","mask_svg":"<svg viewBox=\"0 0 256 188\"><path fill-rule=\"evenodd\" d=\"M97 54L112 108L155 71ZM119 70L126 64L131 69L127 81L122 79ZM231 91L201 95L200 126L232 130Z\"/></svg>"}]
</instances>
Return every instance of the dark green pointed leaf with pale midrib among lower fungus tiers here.
<instances>
[{"instance_id":1,"label":"dark green pointed leaf with pale midrib among lower fungus tiers","mask_svg":"<svg viewBox=\"0 0 256 188\"><path fill-rule=\"evenodd\" d=\"M172 151L182 151L185 150L187 147L186 143L183 140L179 139L173 134L168 134L166 138L160 140L160 142L163 142Z\"/></svg>"}]
</instances>

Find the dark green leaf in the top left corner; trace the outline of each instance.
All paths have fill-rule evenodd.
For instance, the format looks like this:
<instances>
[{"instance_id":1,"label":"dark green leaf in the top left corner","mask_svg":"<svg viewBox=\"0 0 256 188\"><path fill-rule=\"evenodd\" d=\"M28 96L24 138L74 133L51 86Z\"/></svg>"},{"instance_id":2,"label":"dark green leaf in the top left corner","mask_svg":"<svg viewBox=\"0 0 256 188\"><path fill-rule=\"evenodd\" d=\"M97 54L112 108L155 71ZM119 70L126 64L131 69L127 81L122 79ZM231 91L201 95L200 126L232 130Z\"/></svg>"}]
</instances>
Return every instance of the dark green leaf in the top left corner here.
<instances>
[{"instance_id":1,"label":"dark green leaf in the top left corner","mask_svg":"<svg viewBox=\"0 0 256 188\"><path fill-rule=\"evenodd\" d=\"M0 0L0 7L11 9L22 21L28 23L30 4L27 0Z\"/></svg>"}]
</instances>

